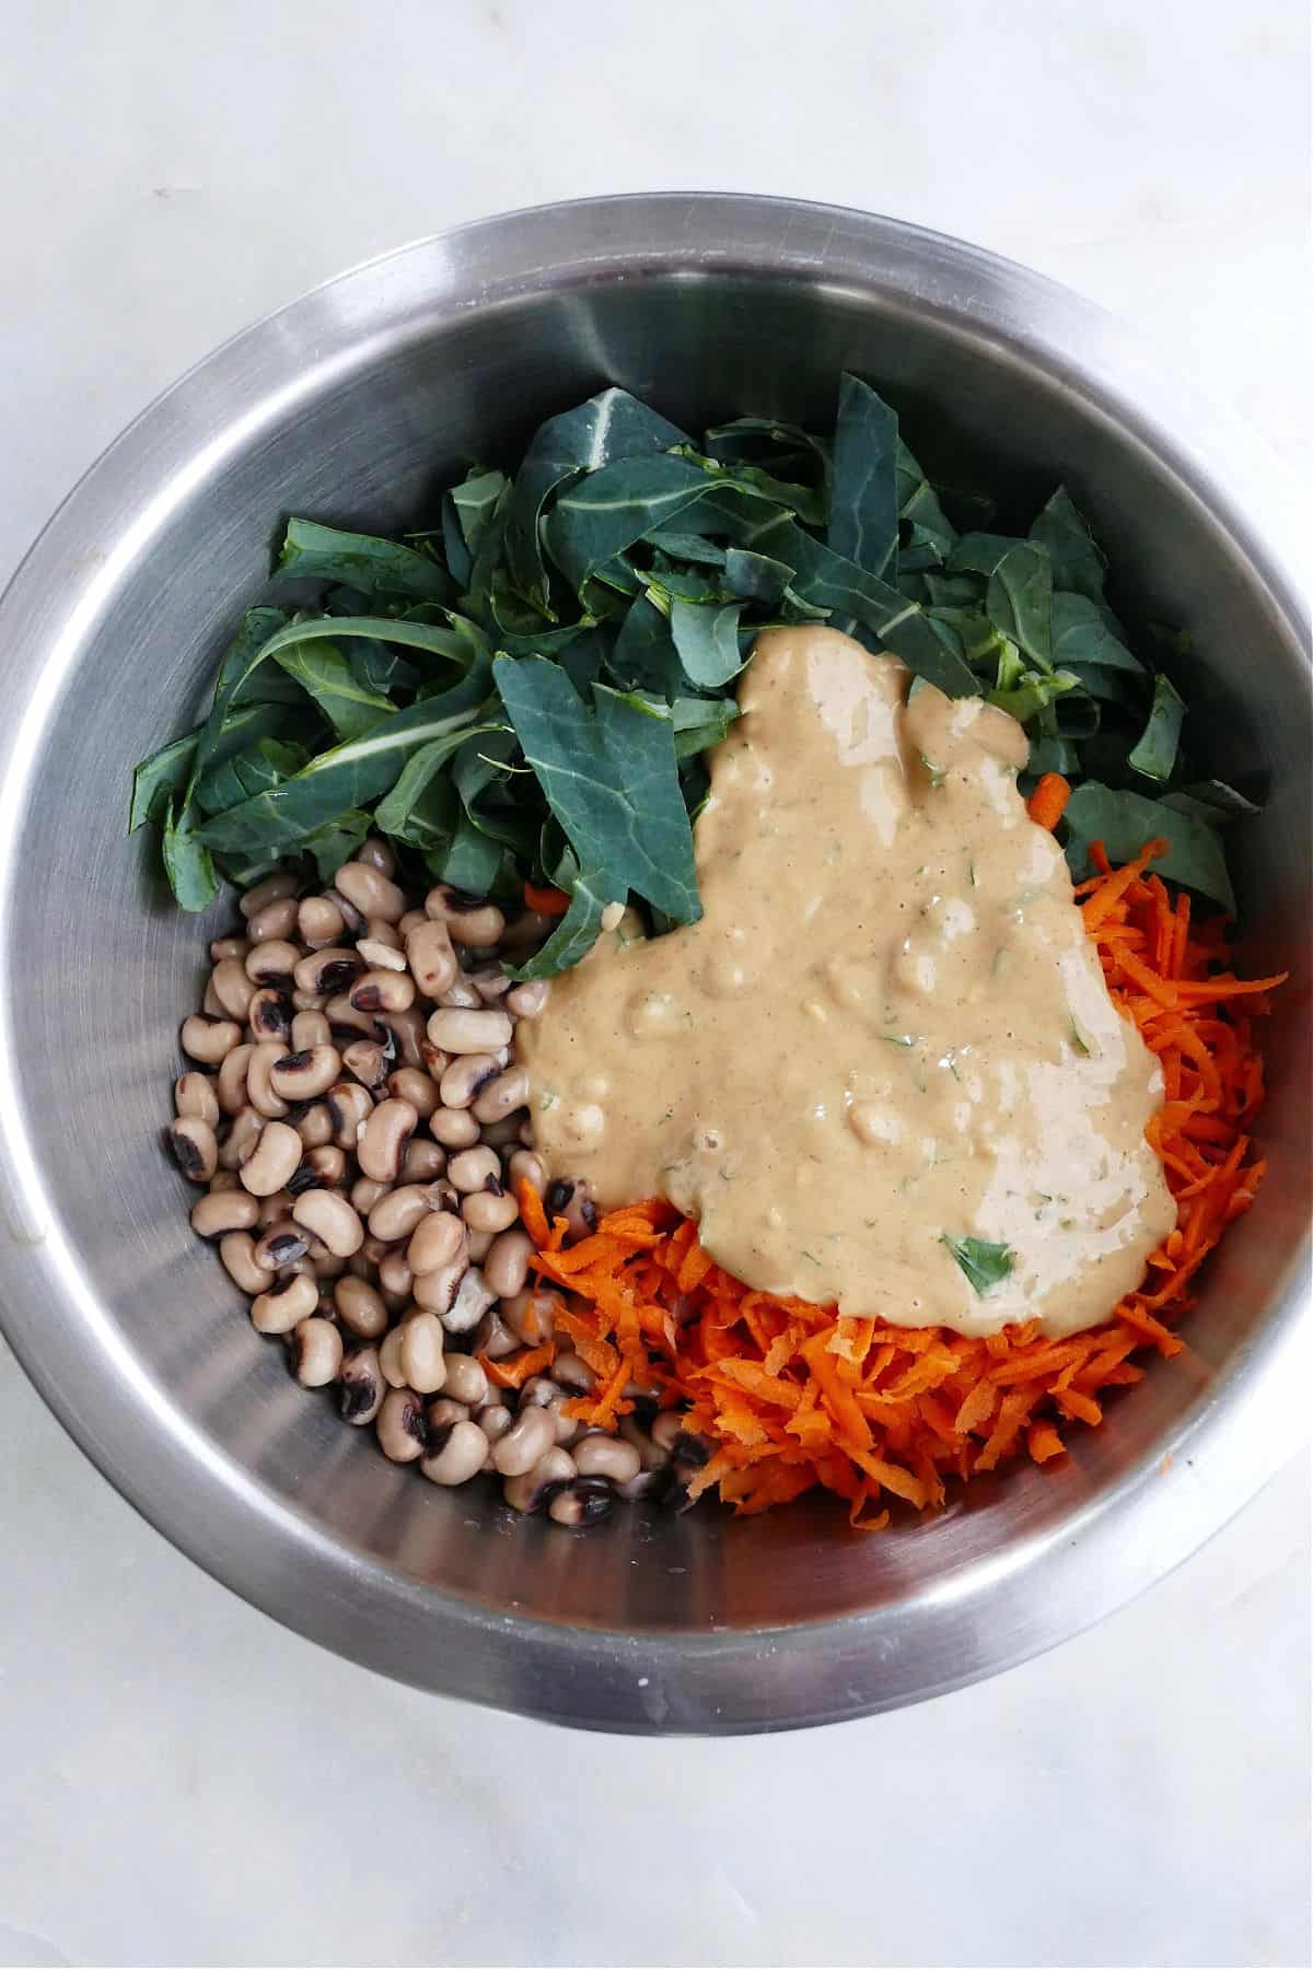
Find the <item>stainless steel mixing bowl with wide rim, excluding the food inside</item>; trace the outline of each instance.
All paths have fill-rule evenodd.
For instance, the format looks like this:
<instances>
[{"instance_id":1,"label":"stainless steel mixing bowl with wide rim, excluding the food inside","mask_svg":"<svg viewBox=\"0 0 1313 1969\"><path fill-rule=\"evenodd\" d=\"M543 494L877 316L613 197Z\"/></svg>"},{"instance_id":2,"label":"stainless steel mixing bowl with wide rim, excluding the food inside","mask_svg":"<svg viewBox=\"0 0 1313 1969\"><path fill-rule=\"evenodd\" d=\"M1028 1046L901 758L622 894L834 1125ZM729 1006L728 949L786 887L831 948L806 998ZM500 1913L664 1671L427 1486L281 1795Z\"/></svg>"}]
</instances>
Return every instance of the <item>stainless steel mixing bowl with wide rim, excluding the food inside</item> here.
<instances>
[{"instance_id":1,"label":"stainless steel mixing bowl with wide rim, excluding the food inside","mask_svg":"<svg viewBox=\"0 0 1313 1969\"><path fill-rule=\"evenodd\" d=\"M734 1522L512 1520L386 1463L252 1333L159 1156L211 925L124 839L134 760L191 721L280 518L396 528L469 459L608 380L683 423L831 415L886 388L925 463L1026 510L1065 478L1122 599L1183 622L1211 766L1270 784L1236 841L1272 1020L1272 1174L1189 1351L1057 1471L929 1524L823 1504ZM0 604L6 1331L100 1469L219 1579L425 1687L636 1731L906 1703L1075 1632L1199 1546L1297 1447L1309 1183L1309 667L1291 514L1252 443L1098 311L955 240L738 197L484 221L346 274L228 343L106 453ZM872 1252L878 1262L878 1250ZM1189 1634L1181 1636L1189 1646Z\"/></svg>"}]
</instances>

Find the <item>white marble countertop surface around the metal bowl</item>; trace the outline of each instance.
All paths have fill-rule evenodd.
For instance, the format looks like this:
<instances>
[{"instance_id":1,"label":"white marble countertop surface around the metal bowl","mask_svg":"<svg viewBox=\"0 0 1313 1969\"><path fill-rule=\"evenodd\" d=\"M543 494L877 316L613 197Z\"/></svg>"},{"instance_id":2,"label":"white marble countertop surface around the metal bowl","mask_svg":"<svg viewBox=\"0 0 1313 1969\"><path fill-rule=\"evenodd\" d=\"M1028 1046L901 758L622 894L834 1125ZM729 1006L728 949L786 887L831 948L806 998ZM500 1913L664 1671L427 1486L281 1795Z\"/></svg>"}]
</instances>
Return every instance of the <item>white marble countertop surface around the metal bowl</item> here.
<instances>
[{"instance_id":1,"label":"white marble countertop surface around the metal bowl","mask_svg":"<svg viewBox=\"0 0 1313 1969\"><path fill-rule=\"evenodd\" d=\"M961 232L1307 471L1301 0L0 0L0 579L177 370L480 213L719 187ZM1303 1963L1309 1467L900 1715L630 1743L394 1687L203 1577L0 1357L4 1963Z\"/></svg>"}]
</instances>

